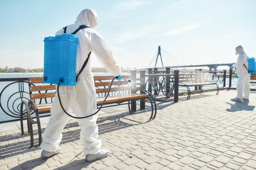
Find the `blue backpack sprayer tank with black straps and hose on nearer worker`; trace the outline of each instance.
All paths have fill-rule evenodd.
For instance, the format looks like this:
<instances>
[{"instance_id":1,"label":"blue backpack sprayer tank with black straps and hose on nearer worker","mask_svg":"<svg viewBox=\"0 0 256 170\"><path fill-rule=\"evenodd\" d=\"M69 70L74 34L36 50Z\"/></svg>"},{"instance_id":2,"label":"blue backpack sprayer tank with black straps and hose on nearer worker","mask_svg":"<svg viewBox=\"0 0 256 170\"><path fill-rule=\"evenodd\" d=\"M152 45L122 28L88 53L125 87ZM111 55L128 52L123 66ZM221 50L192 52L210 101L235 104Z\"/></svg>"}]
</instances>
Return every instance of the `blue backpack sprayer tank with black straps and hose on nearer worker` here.
<instances>
[{"instance_id":1,"label":"blue backpack sprayer tank with black straps and hose on nearer worker","mask_svg":"<svg viewBox=\"0 0 256 170\"><path fill-rule=\"evenodd\" d=\"M78 73L78 76L75 77L75 67L76 67L76 56L77 56L77 45L78 45L78 37L75 36L75 33L78 33L80 29L89 28L85 25L80 26L75 32L72 34L66 33L67 27L63 28L64 33L62 35L56 35L55 37L47 37L44 38L45 46L44 46L44 64L43 64L43 84L58 84L57 93L60 101L59 94L59 86L75 86L76 81L78 81L78 76L85 68L91 52L89 52L87 59L84 64L82 64L82 68ZM110 88L107 92L107 96L103 101L100 108L91 115L83 116L83 117L75 117L70 115L65 109L60 101L60 106L63 108L63 111L72 118L88 118L92 115L97 114L102 106L104 105L107 97L110 94L110 89L112 87L113 81L116 77L112 79L110 84Z\"/></svg>"}]
</instances>

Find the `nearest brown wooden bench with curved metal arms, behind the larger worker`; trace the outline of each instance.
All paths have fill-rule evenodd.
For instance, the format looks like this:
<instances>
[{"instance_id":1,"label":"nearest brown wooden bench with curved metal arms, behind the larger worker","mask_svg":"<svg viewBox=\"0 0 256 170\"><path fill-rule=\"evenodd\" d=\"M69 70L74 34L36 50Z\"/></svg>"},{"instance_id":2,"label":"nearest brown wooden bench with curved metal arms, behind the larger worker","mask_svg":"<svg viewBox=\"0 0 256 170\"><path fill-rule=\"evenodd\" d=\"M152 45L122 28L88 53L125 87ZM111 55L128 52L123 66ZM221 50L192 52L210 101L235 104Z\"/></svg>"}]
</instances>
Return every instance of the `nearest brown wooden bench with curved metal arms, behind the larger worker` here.
<instances>
[{"instance_id":1,"label":"nearest brown wooden bench with curved metal arms, behind the larger worker","mask_svg":"<svg viewBox=\"0 0 256 170\"><path fill-rule=\"evenodd\" d=\"M97 106L102 105L102 102L107 95L107 91L111 84L112 78L113 77L111 76L94 77L97 94ZM122 78L129 79L130 77L123 76ZM21 135L24 134L23 119L26 118L28 124L28 133L31 135L31 147L33 147L33 124L38 125L39 145L41 145L42 137L40 117L43 115L43 113L50 113L50 108L53 104L53 98L56 94L55 85L42 84L42 81L42 78L29 78L28 88L30 93L30 100L28 102L21 102ZM131 89L131 86L129 86L129 81L127 80L114 80L110 92L111 95L105 101L106 106L116 106L113 105L113 103L120 105L127 104L128 102L129 113L134 113L137 111L136 101L140 101L141 110L145 109L145 103L150 103L148 107L151 109L149 120L153 120L156 117L156 102L148 91L136 87ZM26 107L25 109L23 109L24 106ZM36 116L32 118L31 114L33 113L36 113Z\"/></svg>"}]
</instances>

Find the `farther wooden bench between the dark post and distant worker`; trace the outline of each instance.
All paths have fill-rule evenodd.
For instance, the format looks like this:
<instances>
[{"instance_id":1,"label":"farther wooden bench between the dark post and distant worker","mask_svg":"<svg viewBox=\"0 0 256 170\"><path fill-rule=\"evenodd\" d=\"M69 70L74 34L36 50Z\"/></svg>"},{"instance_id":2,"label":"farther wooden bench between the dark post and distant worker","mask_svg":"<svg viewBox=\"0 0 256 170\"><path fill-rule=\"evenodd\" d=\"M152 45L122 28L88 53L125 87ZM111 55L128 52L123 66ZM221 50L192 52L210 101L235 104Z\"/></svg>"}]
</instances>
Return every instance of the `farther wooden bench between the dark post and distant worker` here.
<instances>
[{"instance_id":1,"label":"farther wooden bench between the dark post and distant worker","mask_svg":"<svg viewBox=\"0 0 256 170\"><path fill-rule=\"evenodd\" d=\"M180 73L178 75L178 86L185 86L188 91L188 97L187 99L191 98L191 86L195 87L195 90L201 90L201 93L203 92L203 86L206 85L213 85L217 87L217 93L219 94L220 87L215 81L208 81L203 75L203 72L191 72L191 73Z\"/></svg>"}]
</instances>

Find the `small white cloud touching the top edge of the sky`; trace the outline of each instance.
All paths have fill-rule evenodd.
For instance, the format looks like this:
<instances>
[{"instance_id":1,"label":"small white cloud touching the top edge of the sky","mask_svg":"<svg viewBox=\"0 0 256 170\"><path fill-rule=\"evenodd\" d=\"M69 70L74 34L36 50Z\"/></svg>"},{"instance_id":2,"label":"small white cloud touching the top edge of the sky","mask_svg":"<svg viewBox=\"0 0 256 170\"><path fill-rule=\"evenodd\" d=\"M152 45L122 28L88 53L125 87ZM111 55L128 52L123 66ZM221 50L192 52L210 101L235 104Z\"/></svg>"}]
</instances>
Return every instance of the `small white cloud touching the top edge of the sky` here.
<instances>
[{"instance_id":1,"label":"small white cloud touching the top edge of the sky","mask_svg":"<svg viewBox=\"0 0 256 170\"><path fill-rule=\"evenodd\" d=\"M146 1L122 1L114 5L114 8L116 8L119 11L129 11L134 8L137 8L138 6L142 6L146 4Z\"/></svg>"}]
</instances>

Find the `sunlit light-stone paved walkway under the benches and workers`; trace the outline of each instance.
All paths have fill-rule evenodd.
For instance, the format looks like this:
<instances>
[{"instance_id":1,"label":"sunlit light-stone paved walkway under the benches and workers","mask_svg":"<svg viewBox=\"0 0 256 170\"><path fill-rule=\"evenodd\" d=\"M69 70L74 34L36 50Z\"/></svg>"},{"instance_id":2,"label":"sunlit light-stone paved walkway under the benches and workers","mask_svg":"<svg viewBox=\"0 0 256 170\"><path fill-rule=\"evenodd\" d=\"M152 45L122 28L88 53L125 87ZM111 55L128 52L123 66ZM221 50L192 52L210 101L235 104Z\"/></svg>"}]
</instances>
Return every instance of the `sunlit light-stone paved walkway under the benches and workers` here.
<instances>
[{"instance_id":1,"label":"sunlit light-stone paved walkway under the benches and workers","mask_svg":"<svg viewBox=\"0 0 256 170\"><path fill-rule=\"evenodd\" d=\"M256 93L250 103L231 102L234 96L235 91L208 92L159 103L156 119L148 123L149 112L105 108L98 125L111 156L92 163L85 162L75 120L65 127L62 152L49 159L39 147L28 148L30 138L18 126L1 130L0 169L256 169Z\"/></svg>"}]
</instances>

